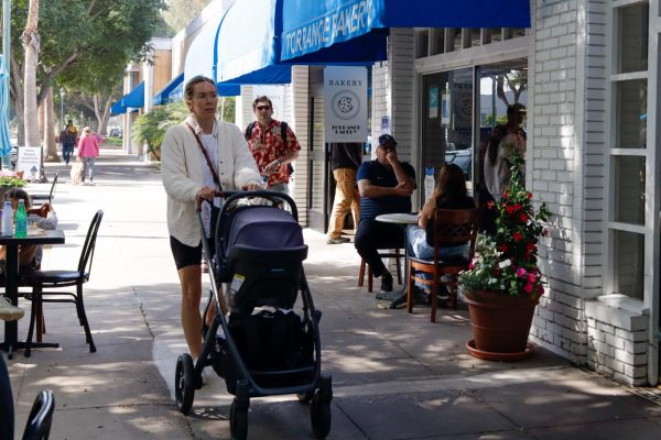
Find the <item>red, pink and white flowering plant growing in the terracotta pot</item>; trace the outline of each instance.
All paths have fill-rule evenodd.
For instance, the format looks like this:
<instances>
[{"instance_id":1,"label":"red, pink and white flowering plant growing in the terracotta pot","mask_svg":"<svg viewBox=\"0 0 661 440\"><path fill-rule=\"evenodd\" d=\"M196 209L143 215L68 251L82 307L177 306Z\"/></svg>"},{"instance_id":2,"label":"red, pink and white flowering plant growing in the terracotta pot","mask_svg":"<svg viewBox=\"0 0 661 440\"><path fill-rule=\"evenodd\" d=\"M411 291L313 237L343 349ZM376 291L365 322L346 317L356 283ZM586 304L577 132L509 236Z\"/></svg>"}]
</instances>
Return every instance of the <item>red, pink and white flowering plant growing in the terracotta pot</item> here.
<instances>
[{"instance_id":1,"label":"red, pink and white flowering plant growing in the terracotta pot","mask_svg":"<svg viewBox=\"0 0 661 440\"><path fill-rule=\"evenodd\" d=\"M496 233L477 238L476 256L468 271L459 274L464 288L531 299L544 293L538 243L540 237L548 234L549 211L542 204L535 212L532 193L522 183L521 165L522 160L514 157L510 186L500 200L487 205L498 211Z\"/></svg>"}]
</instances>

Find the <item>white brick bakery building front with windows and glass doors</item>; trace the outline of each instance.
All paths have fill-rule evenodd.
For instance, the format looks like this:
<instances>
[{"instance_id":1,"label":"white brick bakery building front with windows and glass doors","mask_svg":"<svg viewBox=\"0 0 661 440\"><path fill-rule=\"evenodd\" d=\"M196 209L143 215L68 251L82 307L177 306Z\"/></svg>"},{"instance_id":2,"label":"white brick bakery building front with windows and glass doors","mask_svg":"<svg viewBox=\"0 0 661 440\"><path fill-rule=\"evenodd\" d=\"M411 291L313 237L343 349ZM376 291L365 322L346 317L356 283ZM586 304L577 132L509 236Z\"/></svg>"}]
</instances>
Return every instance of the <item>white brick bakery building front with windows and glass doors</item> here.
<instances>
[{"instance_id":1,"label":"white brick bakery building front with windows and glass doors","mask_svg":"<svg viewBox=\"0 0 661 440\"><path fill-rule=\"evenodd\" d=\"M462 166L478 195L492 128L508 103L528 107L525 184L552 212L531 339L631 385L659 378L660 158L648 90L659 81L660 2L531 0L530 29L391 29L388 61L370 67L371 138L388 120L416 169L418 207L423 170L444 162ZM173 75L188 35L173 46ZM322 84L323 67L294 66L282 119L302 146L290 187L301 222L325 232ZM241 128L253 92L243 86L237 99Z\"/></svg>"}]
</instances>

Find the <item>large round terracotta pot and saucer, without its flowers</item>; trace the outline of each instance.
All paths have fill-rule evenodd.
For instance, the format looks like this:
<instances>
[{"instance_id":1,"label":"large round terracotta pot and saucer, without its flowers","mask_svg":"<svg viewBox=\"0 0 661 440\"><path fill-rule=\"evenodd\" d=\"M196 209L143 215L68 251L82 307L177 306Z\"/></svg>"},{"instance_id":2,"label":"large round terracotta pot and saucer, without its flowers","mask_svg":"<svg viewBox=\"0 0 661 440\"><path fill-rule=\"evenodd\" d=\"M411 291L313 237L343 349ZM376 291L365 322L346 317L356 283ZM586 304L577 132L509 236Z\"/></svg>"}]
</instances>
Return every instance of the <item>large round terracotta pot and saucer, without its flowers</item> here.
<instances>
[{"instance_id":1,"label":"large round terracotta pot and saucer, without its flowers","mask_svg":"<svg viewBox=\"0 0 661 440\"><path fill-rule=\"evenodd\" d=\"M528 358L528 343L537 299L512 298L488 290L464 289L474 340L466 346L472 355L489 361Z\"/></svg>"}]
</instances>

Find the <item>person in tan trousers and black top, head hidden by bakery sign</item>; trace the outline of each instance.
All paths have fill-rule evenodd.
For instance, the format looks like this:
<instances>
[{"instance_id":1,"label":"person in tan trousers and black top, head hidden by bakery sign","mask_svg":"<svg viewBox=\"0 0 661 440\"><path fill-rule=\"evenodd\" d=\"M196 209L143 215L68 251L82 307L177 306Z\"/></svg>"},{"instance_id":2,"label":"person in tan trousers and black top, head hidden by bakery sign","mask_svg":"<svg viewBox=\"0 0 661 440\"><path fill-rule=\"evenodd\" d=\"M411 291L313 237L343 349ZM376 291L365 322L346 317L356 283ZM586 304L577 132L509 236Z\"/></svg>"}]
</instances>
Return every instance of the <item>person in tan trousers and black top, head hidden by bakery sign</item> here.
<instances>
[{"instance_id":1,"label":"person in tan trousers and black top, head hidden by bakery sign","mask_svg":"<svg viewBox=\"0 0 661 440\"><path fill-rule=\"evenodd\" d=\"M358 197L356 196L356 172L362 162L362 144L360 143L332 143L330 169L335 177L335 200L328 222L328 244L348 243L348 238L342 237L345 217L349 211L354 213L354 230L358 229Z\"/></svg>"}]
</instances>

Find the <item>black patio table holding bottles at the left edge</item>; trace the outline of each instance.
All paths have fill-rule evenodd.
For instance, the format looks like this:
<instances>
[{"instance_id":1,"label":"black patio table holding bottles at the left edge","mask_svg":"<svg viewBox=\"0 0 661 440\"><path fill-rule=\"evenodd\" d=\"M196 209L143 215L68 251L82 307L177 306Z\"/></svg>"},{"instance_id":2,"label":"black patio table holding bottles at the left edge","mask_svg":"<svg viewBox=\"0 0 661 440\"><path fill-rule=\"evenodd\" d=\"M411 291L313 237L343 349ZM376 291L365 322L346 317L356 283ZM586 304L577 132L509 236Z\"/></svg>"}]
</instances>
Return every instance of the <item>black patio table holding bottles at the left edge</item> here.
<instances>
[{"instance_id":1,"label":"black patio table holding bottles at the left edge","mask_svg":"<svg viewBox=\"0 0 661 440\"><path fill-rule=\"evenodd\" d=\"M44 231L37 228L29 228L28 237L19 239L15 237L0 237L0 245L7 246L7 261L4 263L4 295L15 306L19 302L19 245L20 244L62 244L64 243L64 231ZM25 348L25 343L18 340L18 321L4 321L4 342L0 343L0 350L7 351L8 359L12 359L13 351ZM33 342L32 348L56 348L57 343Z\"/></svg>"}]
</instances>

